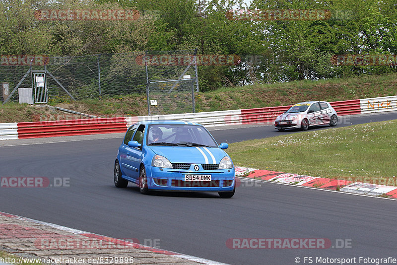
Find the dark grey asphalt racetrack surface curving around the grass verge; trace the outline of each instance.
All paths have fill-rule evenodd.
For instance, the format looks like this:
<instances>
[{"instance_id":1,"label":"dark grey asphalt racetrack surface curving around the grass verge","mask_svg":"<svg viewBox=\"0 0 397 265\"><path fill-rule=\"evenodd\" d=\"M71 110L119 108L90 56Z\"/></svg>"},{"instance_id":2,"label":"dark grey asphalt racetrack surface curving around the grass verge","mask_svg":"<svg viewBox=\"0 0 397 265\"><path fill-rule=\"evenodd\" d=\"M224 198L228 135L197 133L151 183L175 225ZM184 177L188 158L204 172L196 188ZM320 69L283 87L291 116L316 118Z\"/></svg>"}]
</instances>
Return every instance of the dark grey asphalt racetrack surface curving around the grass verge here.
<instances>
[{"instance_id":1,"label":"dark grey asphalt racetrack surface curving around the grass verge","mask_svg":"<svg viewBox=\"0 0 397 265\"><path fill-rule=\"evenodd\" d=\"M360 115L341 119L338 127L392 119L396 113ZM218 142L229 143L296 132L260 125L210 131ZM320 257L356 258L360 264L359 257L397 258L396 200L252 180L242 180L232 199L211 193L144 196L131 183L126 189L114 187L122 134L73 137L0 142L0 177L46 177L62 186L0 187L0 211L228 264L309 264L309 257L312 264ZM49 141L54 142L44 143ZM325 239L331 245L231 249L226 242L233 239Z\"/></svg>"}]
</instances>

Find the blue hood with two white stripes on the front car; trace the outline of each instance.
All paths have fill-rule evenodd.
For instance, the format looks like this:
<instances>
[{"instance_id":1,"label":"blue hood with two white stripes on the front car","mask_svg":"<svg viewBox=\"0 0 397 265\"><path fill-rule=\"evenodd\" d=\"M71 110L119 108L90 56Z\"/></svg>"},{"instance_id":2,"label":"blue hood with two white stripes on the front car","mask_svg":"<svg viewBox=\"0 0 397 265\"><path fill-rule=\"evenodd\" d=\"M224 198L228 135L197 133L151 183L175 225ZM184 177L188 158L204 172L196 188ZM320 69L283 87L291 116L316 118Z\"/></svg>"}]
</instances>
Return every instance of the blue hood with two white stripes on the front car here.
<instances>
[{"instance_id":1,"label":"blue hood with two white stripes on the front car","mask_svg":"<svg viewBox=\"0 0 397 265\"><path fill-rule=\"evenodd\" d=\"M225 151L216 147L195 147L195 146L148 146L148 147L156 154L162 155L168 160L170 160L171 163L219 164L220 160L227 155Z\"/></svg>"}]
</instances>

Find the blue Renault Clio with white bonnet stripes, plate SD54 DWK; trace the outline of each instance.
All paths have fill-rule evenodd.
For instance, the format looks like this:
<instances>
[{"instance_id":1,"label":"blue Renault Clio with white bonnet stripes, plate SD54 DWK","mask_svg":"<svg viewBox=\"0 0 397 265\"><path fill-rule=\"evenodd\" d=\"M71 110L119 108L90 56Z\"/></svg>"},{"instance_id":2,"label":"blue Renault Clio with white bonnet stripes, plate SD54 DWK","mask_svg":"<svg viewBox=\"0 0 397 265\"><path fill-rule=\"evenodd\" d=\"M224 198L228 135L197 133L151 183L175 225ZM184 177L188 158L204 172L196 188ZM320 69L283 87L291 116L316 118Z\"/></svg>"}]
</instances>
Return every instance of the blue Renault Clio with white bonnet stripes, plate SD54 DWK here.
<instances>
[{"instance_id":1,"label":"blue Renault Clio with white bonnet stripes, plate SD54 DWK","mask_svg":"<svg viewBox=\"0 0 397 265\"><path fill-rule=\"evenodd\" d=\"M117 152L114 183L129 182L142 194L150 191L235 192L233 162L202 126L183 121L145 121L133 124Z\"/></svg>"}]
</instances>

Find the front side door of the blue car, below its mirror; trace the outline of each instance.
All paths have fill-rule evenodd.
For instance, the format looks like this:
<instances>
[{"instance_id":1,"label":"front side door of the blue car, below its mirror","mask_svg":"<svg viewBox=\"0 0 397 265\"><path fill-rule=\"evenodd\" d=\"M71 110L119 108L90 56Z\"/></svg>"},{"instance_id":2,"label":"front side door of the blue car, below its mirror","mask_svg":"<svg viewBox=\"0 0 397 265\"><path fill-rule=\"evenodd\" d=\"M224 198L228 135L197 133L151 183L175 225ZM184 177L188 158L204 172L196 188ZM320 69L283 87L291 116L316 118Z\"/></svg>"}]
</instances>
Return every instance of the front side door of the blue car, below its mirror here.
<instances>
[{"instance_id":1,"label":"front side door of the blue car, below its mirror","mask_svg":"<svg viewBox=\"0 0 397 265\"><path fill-rule=\"evenodd\" d=\"M138 129L136 129L135 134L133 135L132 140L137 141L141 144L140 147L130 147L127 145L126 147L126 167L130 170L130 176L133 179L139 178L139 166L140 166L140 157L142 156L142 145L143 145L143 136L145 133L145 126L143 124L139 125Z\"/></svg>"}]
</instances>

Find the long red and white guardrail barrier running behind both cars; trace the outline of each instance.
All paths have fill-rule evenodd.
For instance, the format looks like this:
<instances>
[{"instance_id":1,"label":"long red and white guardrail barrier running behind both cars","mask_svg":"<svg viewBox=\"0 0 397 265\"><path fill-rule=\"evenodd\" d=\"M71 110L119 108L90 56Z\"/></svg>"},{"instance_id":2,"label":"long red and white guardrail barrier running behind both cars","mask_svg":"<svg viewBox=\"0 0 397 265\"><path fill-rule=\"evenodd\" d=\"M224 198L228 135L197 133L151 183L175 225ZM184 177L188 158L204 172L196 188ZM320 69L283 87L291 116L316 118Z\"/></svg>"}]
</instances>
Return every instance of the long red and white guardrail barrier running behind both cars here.
<instances>
[{"instance_id":1,"label":"long red and white guardrail barrier running behind both cars","mask_svg":"<svg viewBox=\"0 0 397 265\"><path fill-rule=\"evenodd\" d=\"M339 116L397 110L397 96L335 101L330 103ZM147 120L182 120L199 123L205 127L256 123L272 124L275 118L288 110L289 107L291 106L157 116L3 123L0 124L0 139L124 133L133 123Z\"/></svg>"}]
</instances>

